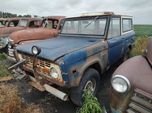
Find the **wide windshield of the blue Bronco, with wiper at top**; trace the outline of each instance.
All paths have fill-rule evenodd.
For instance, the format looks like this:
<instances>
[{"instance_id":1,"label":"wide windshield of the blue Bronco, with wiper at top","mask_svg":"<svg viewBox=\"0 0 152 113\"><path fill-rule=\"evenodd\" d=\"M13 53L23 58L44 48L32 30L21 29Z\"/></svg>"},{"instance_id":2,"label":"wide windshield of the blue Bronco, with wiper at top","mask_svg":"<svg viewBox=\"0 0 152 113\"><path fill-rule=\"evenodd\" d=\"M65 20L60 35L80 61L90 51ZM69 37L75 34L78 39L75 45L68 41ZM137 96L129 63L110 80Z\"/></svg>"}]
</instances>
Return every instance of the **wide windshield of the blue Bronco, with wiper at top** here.
<instances>
[{"instance_id":1,"label":"wide windshield of the blue Bronco, with wiper at top","mask_svg":"<svg viewBox=\"0 0 152 113\"><path fill-rule=\"evenodd\" d=\"M106 18L67 19L61 33L78 35L104 35Z\"/></svg>"}]
</instances>

